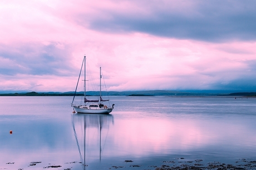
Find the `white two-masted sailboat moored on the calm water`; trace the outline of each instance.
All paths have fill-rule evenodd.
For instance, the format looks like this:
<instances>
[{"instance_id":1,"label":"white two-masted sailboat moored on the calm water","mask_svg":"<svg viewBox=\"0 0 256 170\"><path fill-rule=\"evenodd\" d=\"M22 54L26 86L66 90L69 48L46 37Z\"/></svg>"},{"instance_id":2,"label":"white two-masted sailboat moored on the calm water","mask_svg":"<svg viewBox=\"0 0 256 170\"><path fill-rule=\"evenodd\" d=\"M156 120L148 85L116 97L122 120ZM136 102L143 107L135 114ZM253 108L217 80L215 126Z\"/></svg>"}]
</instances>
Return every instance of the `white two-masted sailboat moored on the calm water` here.
<instances>
[{"instance_id":1,"label":"white two-masted sailboat moored on the calm water","mask_svg":"<svg viewBox=\"0 0 256 170\"><path fill-rule=\"evenodd\" d=\"M84 66L83 66L84 64ZM83 105L75 105L74 104L74 100L75 100L75 96L76 96L76 90L77 90L77 86L78 86L78 82L80 80L80 75L81 75L81 71L84 68L84 83L83 83L83 87L84 87L84 99L83 99ZM100 98L99 100L88 100L86 99L86 56L83 56L83 62L82 62L82 66L81 66L81 70L80 70L80 74L78 76L78 81L77 81L77 85L76 85L76 90L75 90L75 94L73 96L73 101L71 103L71 106L73 107L74 110L76 110L77 113L81 113L81 114L109 114L113 109L114 109L114 105L112 104L112 106L107 106L105 105L103 102L104 101L109 101L109 100L103 100L101 97L101 67L100 67Z\"/></svg>"}]
</instances>

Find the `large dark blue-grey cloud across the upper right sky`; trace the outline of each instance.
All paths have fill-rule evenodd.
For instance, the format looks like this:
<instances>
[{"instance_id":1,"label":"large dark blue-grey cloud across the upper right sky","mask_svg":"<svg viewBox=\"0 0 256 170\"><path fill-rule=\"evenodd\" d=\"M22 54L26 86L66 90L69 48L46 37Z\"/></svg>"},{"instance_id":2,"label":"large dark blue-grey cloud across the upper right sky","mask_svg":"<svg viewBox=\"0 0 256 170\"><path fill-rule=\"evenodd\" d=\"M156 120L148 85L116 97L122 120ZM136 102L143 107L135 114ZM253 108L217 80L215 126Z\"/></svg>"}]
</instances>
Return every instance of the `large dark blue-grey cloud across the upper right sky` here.
<instances>
[{"instance_id":1,"label":"large dark blue-grey cloud across the upper right sky","mask_svg":"<svg viewBox=\"0 0 256 170\"><path fill-rule=\"evenodd\" d=\"M141 32L160 37L227 42L256 39L254 1L121 1L102 10L90 28L108 33ZM178 3L179 2L179 3ZM187 5L184 5L188 3ZM132 11L122 5L132 7ZM183 6L184 5L184 6ZM107 16L107 17L106 17ZM85 16L82 16L80 20Z\"/></svg>"}]
</instances>

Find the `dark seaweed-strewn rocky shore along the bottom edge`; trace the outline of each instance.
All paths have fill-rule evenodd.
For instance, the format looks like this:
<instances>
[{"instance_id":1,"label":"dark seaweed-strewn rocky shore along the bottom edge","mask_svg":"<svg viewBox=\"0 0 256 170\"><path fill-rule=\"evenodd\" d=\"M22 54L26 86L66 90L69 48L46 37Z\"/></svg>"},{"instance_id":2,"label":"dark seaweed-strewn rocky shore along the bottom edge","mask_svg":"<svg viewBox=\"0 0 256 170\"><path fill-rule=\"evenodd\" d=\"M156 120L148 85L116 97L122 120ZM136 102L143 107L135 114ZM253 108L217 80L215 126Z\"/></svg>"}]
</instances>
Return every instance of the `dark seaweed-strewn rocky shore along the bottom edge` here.
<instances>
[{"instance_id":1,"label":"dark seaweed-strewn rocky shore along the bottom edge","mask_svg":"<svg viewBox=\"0 0 256 170\"><path fill-rule=\"evenodd\" d=\"M83 164L82 162L67 162L63 165L56 164L47 164L47 166L43 165L42 162L30 162L27 167L38 166L41 164L41 168L58 168L61 170L71 170L73 169L72 164L80 164L80 166L88 167L87 164ZM8 162L6 164L14 164L14 162ZM67 165L70 165L67 167ZM185 158L175 158L175 161L161 161L160 166L156 165L141 165L136 164L132 160L125 160L122 166L112 165L107 169L143 169L143 170L247 170L247 169L256 169L256 161L254 159L239 159L235 161L233 164L226 164L221 162L208 162L205 163L202 159L195 159L194 161L186 161ZM39 165L40 166L40 165ZM0 169L9 169L8 167ZM18 168L18 170L23 170L26 168Z\"/></svg>"}]
</instances>

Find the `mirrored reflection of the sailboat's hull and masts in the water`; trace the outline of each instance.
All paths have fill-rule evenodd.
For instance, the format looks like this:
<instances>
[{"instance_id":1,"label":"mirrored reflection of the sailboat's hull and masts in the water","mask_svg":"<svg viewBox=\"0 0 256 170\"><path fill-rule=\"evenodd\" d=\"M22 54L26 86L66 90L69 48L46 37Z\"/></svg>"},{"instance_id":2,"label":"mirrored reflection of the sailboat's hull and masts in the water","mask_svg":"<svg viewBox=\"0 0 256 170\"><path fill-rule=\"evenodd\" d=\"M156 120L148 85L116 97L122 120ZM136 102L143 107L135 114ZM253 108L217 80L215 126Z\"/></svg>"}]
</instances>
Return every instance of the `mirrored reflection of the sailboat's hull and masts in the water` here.
<instances>
[{"instance_id":1,"label":"mirrored reflection of the sailboat's hull and masts in the water","mask_svg":"<svg viewBox=\"0 0 256 170\"><path fill-rule=\"evenodd\" d=\"M105 144L109 127L114 124L114 117L104 114L73 114L72 116L73 131L81 163L85 169L86 158L99 157L101 161L102 143Z\"/></svg>"}]
</instances>

